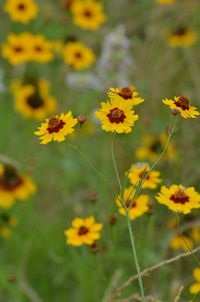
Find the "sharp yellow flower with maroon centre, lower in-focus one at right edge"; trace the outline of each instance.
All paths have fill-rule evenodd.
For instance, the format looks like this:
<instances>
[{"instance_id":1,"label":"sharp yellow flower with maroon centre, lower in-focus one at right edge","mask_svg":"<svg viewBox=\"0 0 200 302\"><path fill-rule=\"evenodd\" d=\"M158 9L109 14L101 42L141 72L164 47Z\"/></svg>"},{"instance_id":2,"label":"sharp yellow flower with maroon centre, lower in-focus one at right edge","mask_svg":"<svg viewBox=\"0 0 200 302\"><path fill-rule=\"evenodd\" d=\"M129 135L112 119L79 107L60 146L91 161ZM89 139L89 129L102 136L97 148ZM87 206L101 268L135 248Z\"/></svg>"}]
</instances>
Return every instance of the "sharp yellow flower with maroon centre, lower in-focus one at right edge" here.
<instances>
[{"instance_id":1,"label":"sharp yellow flower with maroon centre, lower in-focus one at right edge","mask_svg":"<svg viewBox=\"0 0 200 302\"><path fill-rule=\"evenodd\" d=\"M192 209L200 208L200 194L193 187L185 188L182 185L172 185L168 189L162 186L156 199L170 210L183 214L190 213Z\"/></svg>"}]
</instances>

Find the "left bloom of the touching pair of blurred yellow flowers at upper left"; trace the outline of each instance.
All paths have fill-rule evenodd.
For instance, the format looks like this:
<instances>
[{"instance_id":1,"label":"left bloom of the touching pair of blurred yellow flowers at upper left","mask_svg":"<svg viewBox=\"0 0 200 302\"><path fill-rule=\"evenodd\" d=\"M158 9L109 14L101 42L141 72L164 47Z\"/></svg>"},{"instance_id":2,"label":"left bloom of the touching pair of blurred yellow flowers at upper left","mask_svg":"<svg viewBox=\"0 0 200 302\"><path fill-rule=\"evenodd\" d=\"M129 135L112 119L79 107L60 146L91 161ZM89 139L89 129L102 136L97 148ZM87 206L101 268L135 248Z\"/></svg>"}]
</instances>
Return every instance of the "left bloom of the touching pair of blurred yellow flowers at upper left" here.
<instances>
[{"instance_id":1,"label":"left bloom of the touching pair of blurred yellow flowers at upper left","mask_svg":"<svg viewBox=\"0 0 200 302\"><path fill-rule=\"evenodd\" d=\"M2 57L16 65L30 60L31 34L9 34L7 43L2 45Z\"/></svg>"}]
</instances>

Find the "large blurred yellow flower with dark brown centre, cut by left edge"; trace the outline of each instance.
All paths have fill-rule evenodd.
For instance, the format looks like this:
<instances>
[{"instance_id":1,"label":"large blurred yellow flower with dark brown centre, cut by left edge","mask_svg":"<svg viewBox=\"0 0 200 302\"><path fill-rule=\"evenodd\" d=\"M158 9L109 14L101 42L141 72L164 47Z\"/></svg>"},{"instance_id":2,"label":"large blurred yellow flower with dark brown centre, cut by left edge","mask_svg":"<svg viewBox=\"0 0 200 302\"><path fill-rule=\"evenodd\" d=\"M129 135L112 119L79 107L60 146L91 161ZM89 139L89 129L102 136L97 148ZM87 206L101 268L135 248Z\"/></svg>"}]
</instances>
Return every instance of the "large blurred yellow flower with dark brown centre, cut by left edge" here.
<instances>
[{"instance_id":1,"label":"large blurred yellow flower with dark brown centre, cut by left edge","mask_svg":"<svg viewBox=\"0 0 200 302\"><path fill-rule=\"evenodd\" d=\"M36 191L36 185L26 174L19 174L10 165L0 165L0 207L10 208L16 199L26 200Z\"/></svg>"}]
</instances>

